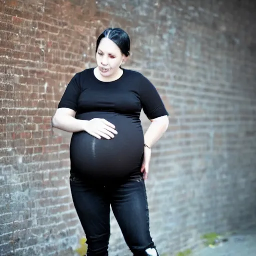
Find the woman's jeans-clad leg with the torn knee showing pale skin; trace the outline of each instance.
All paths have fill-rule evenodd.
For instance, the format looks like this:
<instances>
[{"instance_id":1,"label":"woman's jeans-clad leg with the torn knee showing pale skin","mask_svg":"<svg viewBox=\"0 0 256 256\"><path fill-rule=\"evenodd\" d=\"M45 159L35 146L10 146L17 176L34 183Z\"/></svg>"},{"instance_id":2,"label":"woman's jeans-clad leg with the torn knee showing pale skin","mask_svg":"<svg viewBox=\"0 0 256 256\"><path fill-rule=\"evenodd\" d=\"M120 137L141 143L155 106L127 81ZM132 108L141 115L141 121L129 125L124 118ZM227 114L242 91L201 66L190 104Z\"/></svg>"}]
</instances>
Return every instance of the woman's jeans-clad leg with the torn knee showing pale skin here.
<instances>
[{"instance_id":1,"label":"woman's jeans-clad leg with the torn knee showing pale skin","mask_svg":"<svg viewBox=\"0 0 256 256\"><path fill-rule=\"evenodd\" d=\"M149 232L145 183L142 177L110 189L111 206L134 256L158 256Z\"/></svg>"}]
</instances>

